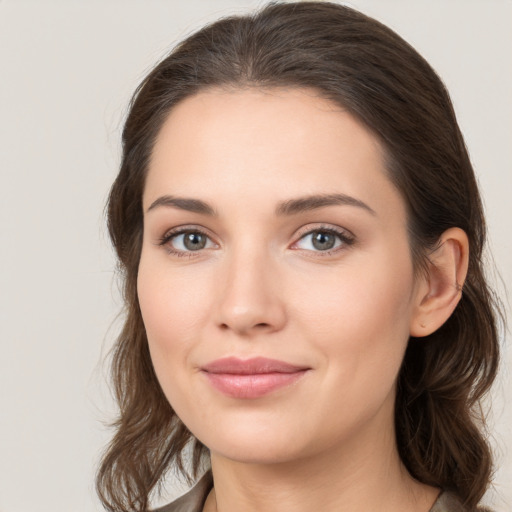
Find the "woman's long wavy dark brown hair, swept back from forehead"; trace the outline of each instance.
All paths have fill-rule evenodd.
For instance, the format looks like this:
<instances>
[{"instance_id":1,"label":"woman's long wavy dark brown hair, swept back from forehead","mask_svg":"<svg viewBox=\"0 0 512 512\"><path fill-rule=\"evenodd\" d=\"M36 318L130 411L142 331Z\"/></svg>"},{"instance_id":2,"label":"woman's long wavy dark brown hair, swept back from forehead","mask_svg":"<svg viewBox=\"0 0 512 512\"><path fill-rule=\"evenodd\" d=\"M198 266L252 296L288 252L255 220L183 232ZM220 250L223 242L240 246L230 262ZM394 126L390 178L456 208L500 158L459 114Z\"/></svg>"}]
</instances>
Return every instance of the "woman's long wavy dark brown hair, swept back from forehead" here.
<instances>
[{"instance_id":1,"label":"woman's long wavy dark brown hair, swept back from forehead","mask_svg":"<svg viewBox=\"0 0 512 512\"><path fill-rule=\"evenodd\" d=\"M483 273L486 230L475 176L448 93L429 64L381 23L329 2L272 3L221 19L175 48L135 92L108 202L126 320L112 359L120 414L97 476L105 507L147 510L162 475L173 466L184 471L183 449L192 443L193 473L206 450L157 381L136 282L152 147L173 106L208 87L314 88L361 120L385 148L389 177L406 202L417 269L445 230L467 233L462 298L437 332L410 339L395 426L411 475L473 508L492 471L478 406L498 365L498 308Z\"/></svg>"}]
</instances>

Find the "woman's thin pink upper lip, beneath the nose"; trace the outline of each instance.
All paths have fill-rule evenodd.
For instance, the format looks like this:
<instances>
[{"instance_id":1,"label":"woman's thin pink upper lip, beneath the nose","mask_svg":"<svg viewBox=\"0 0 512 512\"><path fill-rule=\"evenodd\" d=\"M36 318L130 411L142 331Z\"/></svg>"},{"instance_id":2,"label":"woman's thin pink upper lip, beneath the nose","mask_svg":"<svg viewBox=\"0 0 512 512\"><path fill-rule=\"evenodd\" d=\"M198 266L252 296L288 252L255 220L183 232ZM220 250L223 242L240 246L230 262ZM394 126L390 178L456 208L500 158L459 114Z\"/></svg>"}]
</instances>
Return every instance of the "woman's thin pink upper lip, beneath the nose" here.
<instances>
[{"instance_id":1,"label":"woman's thin pink upper lip, beneath the nose","mask_svg":"<svg viewBox=\"0 0 512 512\"><path fill-rule=\"evenodd\" d=\"M237 357L225 357L205 364L201 370L208 373L224 373L233 375L255 375L264 373L295 373L307 370L306 366L268 359L266 357L254 357L251 359L238 359Z\"/></svg>"}]
</instances>

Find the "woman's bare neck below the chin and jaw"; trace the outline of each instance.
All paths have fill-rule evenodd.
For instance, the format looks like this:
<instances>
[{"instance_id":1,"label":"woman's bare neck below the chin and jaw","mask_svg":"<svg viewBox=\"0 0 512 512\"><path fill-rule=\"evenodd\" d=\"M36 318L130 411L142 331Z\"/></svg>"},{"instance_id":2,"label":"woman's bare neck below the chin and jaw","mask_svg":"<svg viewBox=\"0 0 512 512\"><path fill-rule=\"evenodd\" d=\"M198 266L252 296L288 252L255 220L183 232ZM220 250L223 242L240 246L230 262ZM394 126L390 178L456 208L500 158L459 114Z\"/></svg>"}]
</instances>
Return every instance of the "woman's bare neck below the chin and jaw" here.
<instances>
[{"instance_id":1,"label":"woman's bare neck below the chin and jaw","mask_svg":"<svg viewBox=\"0 0 512 512\"><path fill-rule=\"evenodd\" d=\"M215 487L205 512L428 512L439 494L409 475L389 430L358 432L337 448L289 462L211 458Z\"/></svg>"}]
</instances>

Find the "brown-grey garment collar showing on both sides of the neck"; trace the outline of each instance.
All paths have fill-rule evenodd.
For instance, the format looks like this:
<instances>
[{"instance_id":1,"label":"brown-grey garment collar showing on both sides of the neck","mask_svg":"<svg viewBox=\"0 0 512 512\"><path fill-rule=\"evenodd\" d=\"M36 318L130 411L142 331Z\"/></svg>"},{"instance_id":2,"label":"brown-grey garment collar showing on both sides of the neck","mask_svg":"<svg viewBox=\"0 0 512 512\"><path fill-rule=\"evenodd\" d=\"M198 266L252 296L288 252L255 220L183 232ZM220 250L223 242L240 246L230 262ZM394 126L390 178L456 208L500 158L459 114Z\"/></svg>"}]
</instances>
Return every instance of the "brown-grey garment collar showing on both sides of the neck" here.
<instances>
[{"instance_id":1,"label":"brown-grey garment collar showing on both sides of the neck","mask_svg":"<svg viewBox=\"0 0 512 512\"><path fill-rule=\"evenodd\" d=\"M206 497L213 486L213 478L208 471L201 480L181 498L169 503L165 507L159 508L154 512L202 512ZM430 512L469 512L461 502L448 492L443 492L430 509ZM490 512L486 509L478 508L475 512Z\"/></svg>"}]
</instances>

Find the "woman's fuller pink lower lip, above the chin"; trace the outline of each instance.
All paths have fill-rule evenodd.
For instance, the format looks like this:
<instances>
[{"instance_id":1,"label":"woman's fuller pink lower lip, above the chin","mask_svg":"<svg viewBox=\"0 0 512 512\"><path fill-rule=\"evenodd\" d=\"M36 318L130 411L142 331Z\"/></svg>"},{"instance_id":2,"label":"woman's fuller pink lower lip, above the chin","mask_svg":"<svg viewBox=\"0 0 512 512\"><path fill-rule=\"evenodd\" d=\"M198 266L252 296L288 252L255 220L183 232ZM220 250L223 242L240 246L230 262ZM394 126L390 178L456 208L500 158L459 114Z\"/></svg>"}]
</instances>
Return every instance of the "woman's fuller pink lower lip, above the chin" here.
<instances>
[{"instance_id":1,"label":"woman's fuller pink lower lip, above the chin","mask_svg":"<svg viewBox=\"0 0 512 512\"><path fill-rule=\"evenodd\" d=\"M210 384L224 395L233 398L260 398L294 384L304 376L306 371L256 373L251 375L209 372L204 372L204 374Z\"/></svg>"}]
</instances>

